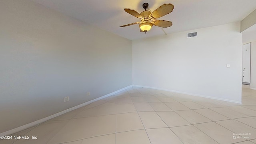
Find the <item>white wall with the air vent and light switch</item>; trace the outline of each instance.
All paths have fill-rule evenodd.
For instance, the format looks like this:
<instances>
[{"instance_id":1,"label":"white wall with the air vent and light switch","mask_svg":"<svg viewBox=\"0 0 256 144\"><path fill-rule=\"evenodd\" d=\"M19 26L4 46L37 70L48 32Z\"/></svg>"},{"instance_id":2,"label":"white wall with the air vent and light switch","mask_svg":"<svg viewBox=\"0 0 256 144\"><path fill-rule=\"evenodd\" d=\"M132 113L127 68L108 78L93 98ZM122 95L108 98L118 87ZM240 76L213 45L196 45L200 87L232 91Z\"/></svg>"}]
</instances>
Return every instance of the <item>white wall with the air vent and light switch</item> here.
<instances>
[{"instance_id":1,"label":"white wall with the air vent and light switch","mask_svg":"<svg viewBox=\"0 0 256 144\"><path fill-rule=\"evenodd\" d=\"M132 54L135 85L241 102L240 22L135 40Z\"/></svg>"}]
</instances>

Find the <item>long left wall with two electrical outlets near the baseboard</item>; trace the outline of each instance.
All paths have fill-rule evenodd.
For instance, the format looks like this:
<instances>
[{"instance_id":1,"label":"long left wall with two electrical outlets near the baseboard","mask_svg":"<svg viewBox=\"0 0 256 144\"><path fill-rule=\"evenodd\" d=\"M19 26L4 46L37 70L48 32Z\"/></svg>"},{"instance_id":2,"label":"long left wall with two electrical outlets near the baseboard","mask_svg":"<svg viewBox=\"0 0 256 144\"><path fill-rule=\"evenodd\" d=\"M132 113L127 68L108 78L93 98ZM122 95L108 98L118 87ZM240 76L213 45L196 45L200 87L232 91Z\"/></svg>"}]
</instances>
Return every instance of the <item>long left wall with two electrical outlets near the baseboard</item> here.
<instances>
[{"instance_id":1,"label":"long left wall with two electrical outlets near the baseboard","mask_svg":"<svg viewBox=\"0 0 256 144\"><path fill-rule=\"evenodd\" d=\"M0 133L131 84L132 41L29 0L0 1Z\"/></svg>"}]
</instances>

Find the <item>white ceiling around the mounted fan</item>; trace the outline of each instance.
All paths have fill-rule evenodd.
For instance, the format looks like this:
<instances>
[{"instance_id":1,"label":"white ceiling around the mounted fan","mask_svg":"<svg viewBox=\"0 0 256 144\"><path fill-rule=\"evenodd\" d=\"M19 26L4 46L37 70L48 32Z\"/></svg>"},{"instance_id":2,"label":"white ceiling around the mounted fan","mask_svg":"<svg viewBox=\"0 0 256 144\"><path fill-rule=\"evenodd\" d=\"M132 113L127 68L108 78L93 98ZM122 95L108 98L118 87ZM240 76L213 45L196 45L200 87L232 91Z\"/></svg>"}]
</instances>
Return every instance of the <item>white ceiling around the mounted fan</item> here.
<instances>
[{"instance_id":1,"label":"white ceiling around the mounted fan","mask_svg":"<svg viewBox=\"0 0 256 144\"><path fill-rule=\"evenodd\" d=\"M256 0L32 0L104 30L136 40L163 35L160 27L153 26L146 34L138 24L120 28L124 24L140 21L126 13L124 8L142 12L142 4L148 2L154 11L164 3L172 3L172 13L158 18L172 21L164 28L167 34L238 22L256 9Z\"/></svg>"}]
</instances>

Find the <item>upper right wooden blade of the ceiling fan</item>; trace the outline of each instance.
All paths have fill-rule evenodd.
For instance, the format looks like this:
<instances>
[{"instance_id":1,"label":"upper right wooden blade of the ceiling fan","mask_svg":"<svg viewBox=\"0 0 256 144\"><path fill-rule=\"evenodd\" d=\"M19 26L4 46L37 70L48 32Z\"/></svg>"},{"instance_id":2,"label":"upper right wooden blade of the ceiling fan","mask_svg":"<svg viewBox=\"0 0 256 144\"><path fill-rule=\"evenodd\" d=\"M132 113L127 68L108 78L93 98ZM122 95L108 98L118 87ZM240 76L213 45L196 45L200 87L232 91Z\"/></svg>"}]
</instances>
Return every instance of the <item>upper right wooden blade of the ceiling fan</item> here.
<instances>
[{"instance_id":1,"label":"upper right wooden blade of the ceiling fan","mask_svg":"<svg viewBox=\"0 0 256 144\"><path fill-rule=\"evenodd\" d=\"M151 17L152 19L154 18L160 18L162 16L165 16L166 14L169 14L172 12L174 9L174 6L172 4L163 4L156 10L154 10L150 15L149 18Z\"/></svg>"}]
</instances>

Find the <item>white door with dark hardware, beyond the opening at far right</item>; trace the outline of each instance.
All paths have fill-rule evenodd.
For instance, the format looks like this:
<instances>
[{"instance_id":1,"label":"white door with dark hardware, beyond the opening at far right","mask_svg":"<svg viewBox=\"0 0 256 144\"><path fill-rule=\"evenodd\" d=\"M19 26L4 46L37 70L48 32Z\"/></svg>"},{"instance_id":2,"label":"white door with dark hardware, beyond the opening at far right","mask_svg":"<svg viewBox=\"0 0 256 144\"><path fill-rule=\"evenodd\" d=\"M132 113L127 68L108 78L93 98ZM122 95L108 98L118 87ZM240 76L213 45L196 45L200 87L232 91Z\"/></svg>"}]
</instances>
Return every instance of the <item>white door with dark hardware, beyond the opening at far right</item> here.
<instances>
[{"instance_id":1,"label":"white door with dark hardware, beyond the opening at far right","mask_svg":"<svg viewBox=\"0 0 256 144\"><path fill-rule=\"evenodd\" d=\"M250 85L251 43L243 45L243 84Z\"/></svg>"}]
</instances>

